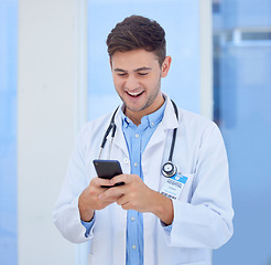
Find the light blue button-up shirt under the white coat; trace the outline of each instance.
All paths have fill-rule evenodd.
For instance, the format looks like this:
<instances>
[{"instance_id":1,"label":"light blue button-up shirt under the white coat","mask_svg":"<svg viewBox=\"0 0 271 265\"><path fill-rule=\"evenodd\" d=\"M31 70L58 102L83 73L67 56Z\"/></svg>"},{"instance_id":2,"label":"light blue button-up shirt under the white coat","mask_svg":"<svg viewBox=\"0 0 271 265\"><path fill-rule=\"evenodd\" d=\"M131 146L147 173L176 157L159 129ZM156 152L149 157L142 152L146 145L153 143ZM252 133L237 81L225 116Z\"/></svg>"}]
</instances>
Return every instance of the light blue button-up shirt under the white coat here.
<instances>
[{"instance_id":1,"label":"light blue button-up shirt under the white coat","mask_svg":"<svg viewBox=\"0 0 271 265\"><path fill-rule=\"evenodd\" d=\"M164 103L156 112L143 116L139 126L134 125L121 112L122 131L124 134L130 157L130 173L138 174L142 180L144 180L144 177L141 168L141 157L158 125L163 119L165 105L166 103ZM86 227L86 236L88 236L94 222L95 216L90 222L82 221L83 225ZM127 212L126 264L143 265L143 214L134 210L129 210Z\"/></svg>"}]
</instances>

